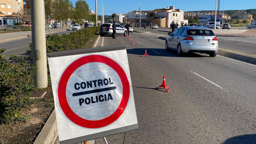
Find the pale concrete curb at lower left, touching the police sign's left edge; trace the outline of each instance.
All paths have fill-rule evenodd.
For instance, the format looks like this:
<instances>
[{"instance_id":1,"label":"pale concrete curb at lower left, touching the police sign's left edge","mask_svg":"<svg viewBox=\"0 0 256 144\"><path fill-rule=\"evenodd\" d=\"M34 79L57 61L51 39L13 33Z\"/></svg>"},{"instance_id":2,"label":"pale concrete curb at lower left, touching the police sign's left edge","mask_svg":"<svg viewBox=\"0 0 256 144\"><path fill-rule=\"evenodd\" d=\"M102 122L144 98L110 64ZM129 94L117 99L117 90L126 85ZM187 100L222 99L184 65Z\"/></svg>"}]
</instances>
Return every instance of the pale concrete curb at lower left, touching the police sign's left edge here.
<instances>
[{"instance_id":1,"label":"pale concrete curb at lower left, touching the police sign's left edge","mask_svg":"<svg viewBox=\"0 0 256 144\"><path fill-rule=\"evenodd\" d=\"M58 136L55 109L44 124L33 144L52 144Z\"/></svg>"}]
</instances>

